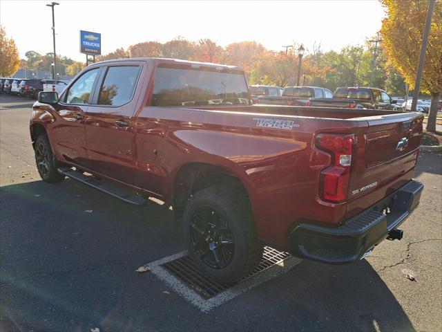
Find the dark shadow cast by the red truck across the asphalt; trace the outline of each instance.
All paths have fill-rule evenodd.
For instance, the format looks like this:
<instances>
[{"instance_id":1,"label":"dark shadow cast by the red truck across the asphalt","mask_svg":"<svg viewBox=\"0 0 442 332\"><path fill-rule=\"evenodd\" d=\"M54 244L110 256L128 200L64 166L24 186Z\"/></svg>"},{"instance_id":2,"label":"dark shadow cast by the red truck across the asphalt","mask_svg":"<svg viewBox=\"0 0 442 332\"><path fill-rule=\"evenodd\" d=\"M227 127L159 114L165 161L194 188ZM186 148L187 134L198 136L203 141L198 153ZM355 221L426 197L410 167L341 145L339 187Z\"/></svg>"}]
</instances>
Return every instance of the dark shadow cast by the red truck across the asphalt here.
<instances>
[{"instance_id":1,"label":"dark shadow cast by the red truck across the asphalt","mask_svg":"<svg viewBox=\"0 0 442 332\"><path fill-rule=\"evenodd\" d=\"M68 179L6 185L0 202L1 331L414 331L365 260L302 261L202 313L135 272L184 249L171 210L133 208Z\"/></svg>"}]
</instances>

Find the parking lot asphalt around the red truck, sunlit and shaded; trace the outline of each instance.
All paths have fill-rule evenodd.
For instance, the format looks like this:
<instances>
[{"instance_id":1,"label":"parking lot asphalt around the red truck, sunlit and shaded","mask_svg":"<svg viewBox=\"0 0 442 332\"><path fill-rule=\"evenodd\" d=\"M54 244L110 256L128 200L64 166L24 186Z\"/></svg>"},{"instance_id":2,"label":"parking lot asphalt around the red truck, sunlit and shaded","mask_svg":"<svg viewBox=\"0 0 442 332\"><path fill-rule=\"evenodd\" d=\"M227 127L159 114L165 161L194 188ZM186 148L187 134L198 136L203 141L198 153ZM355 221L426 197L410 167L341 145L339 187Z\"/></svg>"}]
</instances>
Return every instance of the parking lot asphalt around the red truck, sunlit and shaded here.
<instances>
[{"instance_id":1,"label":"parking lot asphalt around the red truck, sunlit and shaded","mask_svg":"<svg viewBox=\"0 0 442 332\"><path fill-rule=\"evenodd\" d=\"M442 330L441 153L419 156L425 190L402 241L355 264L302 261L202 313L135 272L184 249L172 212L70 179L43 183L28 130L33 101L0 99L0 331Z\"/></svg>"}]
</instances>

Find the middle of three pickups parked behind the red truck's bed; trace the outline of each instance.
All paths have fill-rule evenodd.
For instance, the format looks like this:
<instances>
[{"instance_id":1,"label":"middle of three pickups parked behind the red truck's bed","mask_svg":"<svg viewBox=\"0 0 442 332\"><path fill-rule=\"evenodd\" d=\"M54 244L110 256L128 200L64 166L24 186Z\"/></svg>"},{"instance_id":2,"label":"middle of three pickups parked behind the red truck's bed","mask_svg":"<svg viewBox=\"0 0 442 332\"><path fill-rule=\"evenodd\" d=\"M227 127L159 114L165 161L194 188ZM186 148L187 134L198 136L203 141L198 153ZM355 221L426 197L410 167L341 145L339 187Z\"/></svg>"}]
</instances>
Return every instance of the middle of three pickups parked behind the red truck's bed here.
<instances>
[{"instance_id":1,"label":"middle of three pickups parked behind the red truck's bed","mask_svg":"<svg viewBox=\"0 0 442 332\"><path fill-rule=\"evenodd\" d=\"M259 96L259 104L309 106L311 98L332 98L333 93L320 86L287 86L282 96Z\"/></svg>"}]
</instances>

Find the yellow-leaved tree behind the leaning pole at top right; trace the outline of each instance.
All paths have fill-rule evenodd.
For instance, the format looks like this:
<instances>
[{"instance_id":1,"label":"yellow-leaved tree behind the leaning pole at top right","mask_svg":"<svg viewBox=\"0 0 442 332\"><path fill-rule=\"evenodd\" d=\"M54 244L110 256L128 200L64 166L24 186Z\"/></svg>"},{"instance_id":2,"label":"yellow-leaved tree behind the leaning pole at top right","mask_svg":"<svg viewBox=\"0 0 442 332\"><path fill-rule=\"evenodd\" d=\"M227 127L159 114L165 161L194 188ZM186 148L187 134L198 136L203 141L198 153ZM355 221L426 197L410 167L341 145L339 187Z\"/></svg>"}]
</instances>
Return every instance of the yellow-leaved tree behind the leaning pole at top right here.
<instances>
[{"instance_id":1,"label":"yellow-leaved tree behind the leaning pole at top right","mask_svg":"<svg viewBox=\"0 0 442 332\"><path fill-rule=\"evenodd\" d=\"M387 9L381 35L385 53L405 81L414 86L427 15L427 0L381 0ZM422 91L431 93L427 131L436 131L442 93L442 1L436 1L423 66Z\"/></svg>"}]
</instances>

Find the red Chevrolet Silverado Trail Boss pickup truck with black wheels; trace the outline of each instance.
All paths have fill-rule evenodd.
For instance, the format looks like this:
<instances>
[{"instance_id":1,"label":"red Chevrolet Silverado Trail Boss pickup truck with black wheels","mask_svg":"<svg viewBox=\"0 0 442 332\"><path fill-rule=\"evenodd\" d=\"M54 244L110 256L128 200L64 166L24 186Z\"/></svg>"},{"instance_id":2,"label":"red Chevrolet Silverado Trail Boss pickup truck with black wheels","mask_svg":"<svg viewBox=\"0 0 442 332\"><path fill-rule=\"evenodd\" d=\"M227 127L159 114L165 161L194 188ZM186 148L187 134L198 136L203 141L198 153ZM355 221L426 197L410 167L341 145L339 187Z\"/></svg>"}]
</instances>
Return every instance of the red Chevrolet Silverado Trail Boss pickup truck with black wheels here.
<instances>
[{"instance_id":1,"label":"red Chevrolet Silverado Trail Boss pickup truck with black wheels","mask_svg":"<svg viewBox=\"0 0 442 332\"><path fill-rule=\"evenodd\" d=\"M253 105L241 68L140 58L92 64L60 96L39 93L30 135L44 181L165 201L195 263L234 282L265 243L344 264L401 239L423 190L422 121Z\"/></svg>"}]
</instances>

